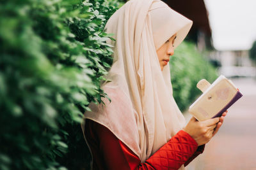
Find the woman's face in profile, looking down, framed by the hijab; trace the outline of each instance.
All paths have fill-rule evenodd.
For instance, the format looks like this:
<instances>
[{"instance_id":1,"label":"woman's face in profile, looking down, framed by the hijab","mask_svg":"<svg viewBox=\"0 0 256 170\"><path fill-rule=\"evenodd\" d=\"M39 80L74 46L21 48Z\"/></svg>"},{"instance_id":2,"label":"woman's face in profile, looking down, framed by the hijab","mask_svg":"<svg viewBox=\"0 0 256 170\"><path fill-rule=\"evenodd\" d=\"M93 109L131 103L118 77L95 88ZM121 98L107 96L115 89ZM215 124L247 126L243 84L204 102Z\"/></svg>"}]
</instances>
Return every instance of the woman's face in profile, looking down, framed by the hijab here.
<instances>
[{"instance_id":1,"label":"woman's face in profile, looking down, framed by the hijab","mask_svg":"<svg viewBox=\"0 0 256 170\"><path fill-rule=\"evenodd\" d=\"M177 34L174 34L170 39L168 39L158 50L157 56L159 60L159 64L161 67L161 71L163 71L164 66L166 66L170 60L170 55L174 54L173 43Z\"/></svg>"}]
</instances>

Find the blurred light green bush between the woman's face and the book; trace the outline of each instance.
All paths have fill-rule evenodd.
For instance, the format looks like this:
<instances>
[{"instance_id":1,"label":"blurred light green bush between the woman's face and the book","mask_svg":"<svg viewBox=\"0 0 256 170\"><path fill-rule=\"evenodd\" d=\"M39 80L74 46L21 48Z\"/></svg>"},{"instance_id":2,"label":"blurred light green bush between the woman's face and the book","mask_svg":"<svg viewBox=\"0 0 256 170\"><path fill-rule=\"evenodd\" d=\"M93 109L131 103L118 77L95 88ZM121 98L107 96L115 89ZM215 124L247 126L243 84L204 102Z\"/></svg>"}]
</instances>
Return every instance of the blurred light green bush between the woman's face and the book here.
<instances>
[{"instance_id":1,"label":"blurred light green bush between the woman's face and the book","mask_svg":"<svg viewBox=\"0 0 256 170\"><path fill-rule=\"evenodd\" d=\"M170 64L173 97L180 110L184 111L201 93L196 83L203 78L212 83L217 78L217 72L204 55L196 50L196 46L187 41L175 49Z\"/></svg>"}]
</instances>

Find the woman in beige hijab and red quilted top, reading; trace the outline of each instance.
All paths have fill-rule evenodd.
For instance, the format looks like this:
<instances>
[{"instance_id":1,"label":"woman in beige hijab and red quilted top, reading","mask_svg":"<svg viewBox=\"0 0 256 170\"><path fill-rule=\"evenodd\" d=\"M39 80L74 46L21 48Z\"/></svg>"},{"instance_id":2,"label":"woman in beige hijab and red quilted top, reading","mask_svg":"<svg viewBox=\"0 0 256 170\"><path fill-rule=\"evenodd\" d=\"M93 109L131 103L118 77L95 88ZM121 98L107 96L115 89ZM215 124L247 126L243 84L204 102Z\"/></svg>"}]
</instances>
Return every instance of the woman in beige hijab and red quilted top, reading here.
<instances>
[{"instance_id":1,"label":"woman in beige hijab and red quilted top, reading","mask_svg":"<svg viewBox=\"0 0 256 170\"><path fill-rule=\"evenodd\" d=\"M184 169L218 131L223 117L185 127L173 99L168 61L191 25L159 0L128 1L109 18L111 103L91 103L82 125L93 169Z\"/></svg>"}]
</instances>

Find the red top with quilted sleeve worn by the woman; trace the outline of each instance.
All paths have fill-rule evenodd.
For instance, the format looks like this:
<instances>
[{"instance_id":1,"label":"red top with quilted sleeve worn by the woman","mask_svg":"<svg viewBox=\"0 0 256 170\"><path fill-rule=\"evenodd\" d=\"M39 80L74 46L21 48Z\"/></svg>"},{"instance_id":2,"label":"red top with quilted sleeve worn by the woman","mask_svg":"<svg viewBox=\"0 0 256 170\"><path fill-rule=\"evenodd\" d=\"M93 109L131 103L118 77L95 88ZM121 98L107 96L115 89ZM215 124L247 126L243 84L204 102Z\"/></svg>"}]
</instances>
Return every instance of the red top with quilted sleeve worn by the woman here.
<instances>
[{"instance_id":1,"label":"red top with quilted sleeve worn by the woman","mask_svg":"<svg viewBox=\"0 0 256 170\"><path fill-rule=\"evenodd\" d=\"M179 131L141 163L139 157L103 125L86 120L84 134L92 152L93 169L179 169L204 151L204 145L198 147L187 132Z\"/></svg>"}]
</instances>

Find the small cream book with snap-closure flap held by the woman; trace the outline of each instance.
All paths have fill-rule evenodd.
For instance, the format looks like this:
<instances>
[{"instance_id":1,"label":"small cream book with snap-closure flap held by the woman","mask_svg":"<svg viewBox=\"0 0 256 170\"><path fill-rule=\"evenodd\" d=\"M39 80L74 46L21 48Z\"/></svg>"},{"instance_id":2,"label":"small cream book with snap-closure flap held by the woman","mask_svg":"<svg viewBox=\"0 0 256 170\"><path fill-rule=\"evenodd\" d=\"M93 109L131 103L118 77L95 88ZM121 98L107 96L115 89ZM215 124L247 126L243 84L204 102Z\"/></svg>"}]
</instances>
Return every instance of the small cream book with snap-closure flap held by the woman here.
<instances>
[{"instance_id":1,"label":"small cream book with snap-closure flap held by the woman","mask_svg":"<svg viewBox=\"0 0 256 170\"><path fill-rule=\"evenodd\" d=\"M219 76L212 84L205 79L200 80L196 87L203 94L189 106L189 113L198 121L220 117L243 96L234 83L223 75Z\"/></svg>"}]
</instances>

